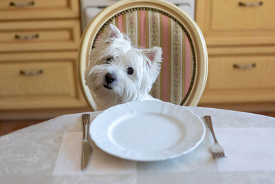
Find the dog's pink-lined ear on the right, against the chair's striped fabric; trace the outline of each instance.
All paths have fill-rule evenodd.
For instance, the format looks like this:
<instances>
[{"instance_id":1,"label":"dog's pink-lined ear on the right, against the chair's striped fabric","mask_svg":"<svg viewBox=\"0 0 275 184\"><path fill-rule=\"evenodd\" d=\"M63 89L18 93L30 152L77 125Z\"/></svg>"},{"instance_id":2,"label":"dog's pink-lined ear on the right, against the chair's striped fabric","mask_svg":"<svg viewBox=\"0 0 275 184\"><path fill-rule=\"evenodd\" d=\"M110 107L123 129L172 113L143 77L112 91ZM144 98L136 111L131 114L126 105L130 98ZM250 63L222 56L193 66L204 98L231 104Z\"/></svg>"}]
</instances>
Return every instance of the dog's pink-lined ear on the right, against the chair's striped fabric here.
<instances>
[{"instance_id":1,"label":"dog's pink-lined ear on the right, against the chair's striped fabric","mask_svg":"<svg viewBox=\"0 0 275 184\"><path fill-rule=\"evenodd\" d=\"M154 65L159 65L162 62L162 48L153 47L150 49L144 49L142 52L148 58L146 61L146 65L149 68L153 67Z\"/></svg>"}]
</instances>

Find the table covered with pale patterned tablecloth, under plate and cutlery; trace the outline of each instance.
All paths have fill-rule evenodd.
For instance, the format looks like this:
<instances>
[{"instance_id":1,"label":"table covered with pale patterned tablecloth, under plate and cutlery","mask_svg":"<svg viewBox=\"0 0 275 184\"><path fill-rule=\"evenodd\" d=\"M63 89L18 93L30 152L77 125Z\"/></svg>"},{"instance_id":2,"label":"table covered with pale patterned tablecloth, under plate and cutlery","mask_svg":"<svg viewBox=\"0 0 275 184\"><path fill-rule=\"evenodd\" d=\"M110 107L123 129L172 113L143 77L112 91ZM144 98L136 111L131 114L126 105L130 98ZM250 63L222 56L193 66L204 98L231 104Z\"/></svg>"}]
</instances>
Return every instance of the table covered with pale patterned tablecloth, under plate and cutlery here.
<instances>
[{"instance_id":1,"label":"table covered with pale patterned tablecloth, under plate and cutlery","mask_svg":"<svg viewBox=\"0 0 275 184\"><path fill-rule=\"evenodd\" d=\"M0 183L275 183L275 119L248 112L185 107L212 117L225 157L214 158L206 126L194 150L162 161L133 161L100 149L81 169L82 114L66 114L0 136ZM103 111L85 112L93 123Z\"/></svg>"}]
</instances>

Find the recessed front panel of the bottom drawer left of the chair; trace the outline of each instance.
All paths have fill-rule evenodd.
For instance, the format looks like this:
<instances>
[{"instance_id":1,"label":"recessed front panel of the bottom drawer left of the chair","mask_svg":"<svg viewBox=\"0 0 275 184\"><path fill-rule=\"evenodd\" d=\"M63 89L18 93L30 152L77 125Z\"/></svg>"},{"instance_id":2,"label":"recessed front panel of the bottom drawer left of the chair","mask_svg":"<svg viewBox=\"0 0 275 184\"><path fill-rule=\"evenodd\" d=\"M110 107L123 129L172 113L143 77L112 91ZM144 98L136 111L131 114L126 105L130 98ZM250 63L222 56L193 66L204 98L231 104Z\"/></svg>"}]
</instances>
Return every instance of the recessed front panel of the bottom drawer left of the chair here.
<instances>
[{"instance_id":1,"label":"recessed front panel of the bottom drawer left of the chair","mask_svg":"<svg viewBox=\"0 0 275 184\"><path fill-rule=\"evenodd\" d=\"M0 63L0 96L74 96L72 61Z\"/></svg>"}]
</instances>

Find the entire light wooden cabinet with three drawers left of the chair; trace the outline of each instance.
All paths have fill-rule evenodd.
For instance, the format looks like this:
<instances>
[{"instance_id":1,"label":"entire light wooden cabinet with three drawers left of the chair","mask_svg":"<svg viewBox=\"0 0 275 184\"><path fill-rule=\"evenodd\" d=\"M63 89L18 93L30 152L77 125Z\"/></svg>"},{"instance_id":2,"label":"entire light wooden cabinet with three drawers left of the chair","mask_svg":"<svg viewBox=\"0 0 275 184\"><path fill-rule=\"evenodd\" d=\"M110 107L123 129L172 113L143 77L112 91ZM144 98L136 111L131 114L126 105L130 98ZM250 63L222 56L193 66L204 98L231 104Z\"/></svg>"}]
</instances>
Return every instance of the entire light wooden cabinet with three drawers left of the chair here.
<instances>
[{"instance_id":1,"label":"entire light wooden cabinet with three drawers left of the chair","mask_svg":"<svg viewBox=\"0 0 275 184\"><path fill-rule=\"evenodd\" d=\"M78 0L0 2L0 119L87 110L77 75L80 36Z\"/></svg>"}]
</instances>

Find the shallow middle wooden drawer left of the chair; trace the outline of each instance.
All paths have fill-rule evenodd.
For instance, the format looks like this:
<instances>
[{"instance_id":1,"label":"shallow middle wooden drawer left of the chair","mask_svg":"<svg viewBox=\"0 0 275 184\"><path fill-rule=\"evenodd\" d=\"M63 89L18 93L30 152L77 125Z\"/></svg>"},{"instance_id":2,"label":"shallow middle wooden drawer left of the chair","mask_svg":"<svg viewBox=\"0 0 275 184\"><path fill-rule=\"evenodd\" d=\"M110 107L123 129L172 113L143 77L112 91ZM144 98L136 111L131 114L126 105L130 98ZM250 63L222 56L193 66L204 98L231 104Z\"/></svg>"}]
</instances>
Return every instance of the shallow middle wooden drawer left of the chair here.
<instances>
[{"instance_id":1,"label":"shallow middle wooden drawer left of the chair","mask_svg":"<svg viewBox=\"0 0 275 184\"><path fill-rule=\"evenodd\" d=\"M0 23L0 52L77 50L79 41L76 20Z\"/></svg>"}]
</instances>

